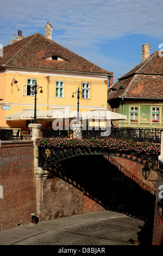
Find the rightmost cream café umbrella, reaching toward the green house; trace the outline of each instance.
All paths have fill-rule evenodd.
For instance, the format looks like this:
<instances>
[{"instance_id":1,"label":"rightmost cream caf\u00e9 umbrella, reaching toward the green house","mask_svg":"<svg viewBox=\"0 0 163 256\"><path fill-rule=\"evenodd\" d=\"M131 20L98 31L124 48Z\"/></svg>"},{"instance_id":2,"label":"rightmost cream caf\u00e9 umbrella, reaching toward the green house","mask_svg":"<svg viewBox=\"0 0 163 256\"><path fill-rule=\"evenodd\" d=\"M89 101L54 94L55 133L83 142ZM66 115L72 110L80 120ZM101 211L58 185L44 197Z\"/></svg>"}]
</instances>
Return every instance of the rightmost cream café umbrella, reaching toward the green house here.
<instances>
[{"instance_id":1,"label":"rightmost cream caf\u00e9 umbrella, reaching toward the green house","mask_svg":"<svg viewBox=\"0 0 163 256\"><path fill-rule=\"evenodd\" d=\"M100 120L126 120L127 115L118 114L108 110L94 109L82 115L83 119L100 119Z\"/></svg>"}]
</instances>

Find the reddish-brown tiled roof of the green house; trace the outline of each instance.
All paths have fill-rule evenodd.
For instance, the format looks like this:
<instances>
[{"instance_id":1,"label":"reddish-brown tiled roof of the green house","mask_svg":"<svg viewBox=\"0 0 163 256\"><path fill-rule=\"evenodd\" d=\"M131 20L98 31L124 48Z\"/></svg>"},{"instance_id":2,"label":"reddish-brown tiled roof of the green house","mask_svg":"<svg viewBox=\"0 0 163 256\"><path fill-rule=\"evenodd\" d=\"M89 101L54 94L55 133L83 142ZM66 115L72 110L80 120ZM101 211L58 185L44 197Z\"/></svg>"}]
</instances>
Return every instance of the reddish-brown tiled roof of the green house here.
<instances>
[{"instance_id":1,"label":"reddish-brown tiled roof of the green house","mask_svg":"<svg viewBox=\"0 0 163 256\"><path fill-rule=\"evenodd\" d=\"M163 99L163 57L155 51L108 88L108 100L118 97Z\"/></svg>"}]
</instances>

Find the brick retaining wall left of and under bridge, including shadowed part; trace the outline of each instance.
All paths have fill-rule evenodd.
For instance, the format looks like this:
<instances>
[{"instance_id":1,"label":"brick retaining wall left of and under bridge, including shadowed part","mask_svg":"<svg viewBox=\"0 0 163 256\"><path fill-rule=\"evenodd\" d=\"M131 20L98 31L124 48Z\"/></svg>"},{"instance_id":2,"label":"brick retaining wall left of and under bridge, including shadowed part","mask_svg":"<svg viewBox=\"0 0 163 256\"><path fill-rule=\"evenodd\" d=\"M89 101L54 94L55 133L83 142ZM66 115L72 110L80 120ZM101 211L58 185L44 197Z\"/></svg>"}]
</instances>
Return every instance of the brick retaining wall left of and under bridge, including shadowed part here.
<instances>
[{"instance_id":1,"label":"brick retaining wall left of and under bridge, including shadowed part","mask_svg":"<svg viewBox=\"0 0 163 256\"><path fill-rule=\"evenodd\" d=\"M140 164L115 160L144 181ZM155 174L150 175L155 178ZM74 157L55 166L47 179L36 179L30 141L2 142L0 186L0 231L30 223L32 212L40 221L104 209L148 218L149 202L154 208L155 197L145 194L139 184L103 156Z\"/></svg>"}]
</instances>

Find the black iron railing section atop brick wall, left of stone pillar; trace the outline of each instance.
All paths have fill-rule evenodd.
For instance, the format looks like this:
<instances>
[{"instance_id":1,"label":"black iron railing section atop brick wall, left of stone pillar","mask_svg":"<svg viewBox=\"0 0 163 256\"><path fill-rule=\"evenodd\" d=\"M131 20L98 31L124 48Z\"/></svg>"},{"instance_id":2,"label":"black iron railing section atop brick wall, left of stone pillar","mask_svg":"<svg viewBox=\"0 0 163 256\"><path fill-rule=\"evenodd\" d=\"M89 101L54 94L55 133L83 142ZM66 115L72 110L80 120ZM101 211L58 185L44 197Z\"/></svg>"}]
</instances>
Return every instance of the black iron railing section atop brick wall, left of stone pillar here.
<instances>
[{"instance_id":1,"label":"black iron railing section atop brick wall, left of stone pillar","mask_svg":"<svg viewBox=\"0 0 163 256\"><path fill-rule=\"evenodd\" d=\"M31 139L32 130L27 127L0 127L1 141L21 141Z\"/></svg>"}]
</instances>

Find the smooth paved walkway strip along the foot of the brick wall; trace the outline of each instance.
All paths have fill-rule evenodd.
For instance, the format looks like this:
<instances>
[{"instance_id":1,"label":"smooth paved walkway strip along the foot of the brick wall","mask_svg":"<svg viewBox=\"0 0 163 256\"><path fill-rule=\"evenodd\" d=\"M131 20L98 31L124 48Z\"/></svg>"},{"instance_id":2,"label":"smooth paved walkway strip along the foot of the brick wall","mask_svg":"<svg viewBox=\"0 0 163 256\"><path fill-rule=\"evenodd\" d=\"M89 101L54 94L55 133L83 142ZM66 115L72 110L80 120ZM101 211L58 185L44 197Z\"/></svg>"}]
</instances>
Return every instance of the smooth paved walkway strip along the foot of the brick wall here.
<instances>
[{"instance_id":1,"label":"smooth paved walkway strip along the foot of the brick wall","mask_svg":"<svg viewBox=\"0 0 163 256\"><path fill-rule=\"evenodd\" d=\"M42 221L35 225L22 225L17 228L1 231L0 245L13 245L16 242L27 239L29 237L60 227L67 227L68 225L90 222L103 218L114 218L118 216L123 216L123 214L104 210L88 212L86 214L74 215L70 217L57 218L55 220Z\"/></svg>"}]
</instances>

